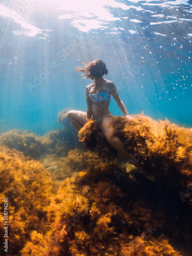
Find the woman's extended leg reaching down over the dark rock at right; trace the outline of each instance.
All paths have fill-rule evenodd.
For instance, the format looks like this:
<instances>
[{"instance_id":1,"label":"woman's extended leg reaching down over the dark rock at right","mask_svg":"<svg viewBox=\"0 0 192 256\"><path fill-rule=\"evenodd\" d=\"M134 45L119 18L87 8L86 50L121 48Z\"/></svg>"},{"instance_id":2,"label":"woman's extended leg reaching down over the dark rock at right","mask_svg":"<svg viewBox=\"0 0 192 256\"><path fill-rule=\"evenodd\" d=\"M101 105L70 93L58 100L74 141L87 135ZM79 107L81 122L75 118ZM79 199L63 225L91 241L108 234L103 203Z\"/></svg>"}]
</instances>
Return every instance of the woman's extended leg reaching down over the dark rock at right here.
<instances>
[{"instance_id":1,"label":"woman's extended leg reaching down over the dark rock at right","mask_svg":"<svg viewBox=\"0 0 192 256\"><path fill-rule=\"evenodd\" d=\"M151 175L146 175L145 174L145 170L141 164L140 160L140 156L137 159L136 157L134 157L132 154L129 154L123 145L123 142L117 138L117 137L111 137L112 133L113 133L113 127L109 127L109 124L111 123L112 119L108 116L103 117L101 120L101 130L106 138L106 140L108 140L109 144L111 146L113 146L118 152L119 154L127 161L129 161L130 163L132 163L133 165L135 165L148 179L154 181L154 177Z\"/></svg>"}]
</instances>

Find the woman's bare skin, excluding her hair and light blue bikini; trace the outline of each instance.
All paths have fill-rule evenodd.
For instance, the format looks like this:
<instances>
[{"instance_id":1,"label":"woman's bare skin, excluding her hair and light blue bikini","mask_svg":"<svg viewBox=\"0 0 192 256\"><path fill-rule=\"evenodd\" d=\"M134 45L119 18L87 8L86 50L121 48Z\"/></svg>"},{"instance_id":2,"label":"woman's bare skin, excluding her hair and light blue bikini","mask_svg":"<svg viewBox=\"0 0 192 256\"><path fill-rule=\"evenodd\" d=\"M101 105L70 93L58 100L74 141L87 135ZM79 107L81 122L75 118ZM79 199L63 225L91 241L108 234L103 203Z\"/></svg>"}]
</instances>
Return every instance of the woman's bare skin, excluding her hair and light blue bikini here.
<instances>
[{"instance_id":1,"label":"woman's bare skin, excluding her hair and light blue bikini","mask_svg":"<svg viewBox=\"0 0 192 256\"><path fill-rule=\"evenodd\" d=\"M117 105L119 106L123 114L127 117L127 119L131 119L124 103L119 97L115 84L112 81L105 80L103 77L95 78L94 82L86 88L87 113L82 111L69 111L68 118L70 122L74 125L75 129L79 131L89 119L93 118L94 120L97 120L103 116L99 121L99 124L109 144L113 146L125 160L131 162L139 170L141 170L141 172L148 179L154 181L153 176L147 176L145 174L145 170L142 164L140 163L139 159L136 159L133 155L127 153L127 151L124 148L123 142L118 137L112 137L113 127L109 126L113 117L113 115L109 111L110 100L92 102L89 97L89 94L96 94L107 91L108 82L110 94L114 97Z\"/></svg>"}]
</instances>

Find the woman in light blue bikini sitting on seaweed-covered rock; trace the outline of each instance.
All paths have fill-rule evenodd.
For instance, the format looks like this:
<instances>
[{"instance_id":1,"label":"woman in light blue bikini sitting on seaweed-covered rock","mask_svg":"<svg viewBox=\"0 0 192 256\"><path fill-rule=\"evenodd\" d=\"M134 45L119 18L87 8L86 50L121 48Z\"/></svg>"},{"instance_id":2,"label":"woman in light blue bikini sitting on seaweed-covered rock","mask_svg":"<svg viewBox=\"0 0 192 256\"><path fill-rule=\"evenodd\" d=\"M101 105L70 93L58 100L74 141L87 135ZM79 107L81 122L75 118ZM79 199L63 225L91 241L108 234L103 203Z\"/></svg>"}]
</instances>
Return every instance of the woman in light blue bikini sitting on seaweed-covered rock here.
<instances>
[{"instance_id":1,"label":"woman in light blue bikini sitting on seaweed-covered rock","mask_svg":"<svg viewBox=\"0 0 192 256\"><path fill-rule=\"evenodd\" d=\"M114 97L119 109L123 112L125 117L127 119L131 119L131 117L119 97L115 84L103 78L103 75L108 74L105 63L97 59L89 62L83 69L78 68L77 71L84 72L86 75L84 78L91 78L94 82L87 86L86 89L87 113L82 111L69 111L68 118L70 122L75 126L76 130L79 131L89 119L93 118L96 120L109 144L113 146L123 158L134 164L145 174L145 170L139 160L125 151L123 142L117 137L112 137L113 127L109 126L113 118L113 115L109 111L111 95ZM147 178L153 179L151 176Z\"/></svg>"}]
</instances>

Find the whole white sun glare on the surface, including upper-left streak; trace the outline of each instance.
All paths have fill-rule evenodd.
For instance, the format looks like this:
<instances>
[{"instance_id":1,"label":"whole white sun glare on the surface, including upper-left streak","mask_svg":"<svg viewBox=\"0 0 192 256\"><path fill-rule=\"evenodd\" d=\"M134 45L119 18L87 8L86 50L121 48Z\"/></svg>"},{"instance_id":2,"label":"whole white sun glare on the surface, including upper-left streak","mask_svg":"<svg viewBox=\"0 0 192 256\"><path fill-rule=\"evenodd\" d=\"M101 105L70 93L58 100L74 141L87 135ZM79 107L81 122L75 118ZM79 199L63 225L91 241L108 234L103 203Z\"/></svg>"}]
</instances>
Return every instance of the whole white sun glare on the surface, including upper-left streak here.
<instances>
[{"instance_id":1,"label":"whole white sun glare on the surface, including upper-left streak","mask_svg":"<svg viewBox=\"0 0 192 256\"><path fill-rule=\"evenodd\" d=\"M13 34L40 36L42 28L36 27L29 18L34 12L43 15L53 12L58 19L67 19L71 26L89 32L92 29L105 29L109 27L109 23L120 20L110 12L111 8L128 10L130 7L115 0L25 0L25 2L12 0L10 6L0 4L0 15L20 25L21 28L14 30ZM111 31L111 33L116 32Z\"/></svg>"}]
</instances>

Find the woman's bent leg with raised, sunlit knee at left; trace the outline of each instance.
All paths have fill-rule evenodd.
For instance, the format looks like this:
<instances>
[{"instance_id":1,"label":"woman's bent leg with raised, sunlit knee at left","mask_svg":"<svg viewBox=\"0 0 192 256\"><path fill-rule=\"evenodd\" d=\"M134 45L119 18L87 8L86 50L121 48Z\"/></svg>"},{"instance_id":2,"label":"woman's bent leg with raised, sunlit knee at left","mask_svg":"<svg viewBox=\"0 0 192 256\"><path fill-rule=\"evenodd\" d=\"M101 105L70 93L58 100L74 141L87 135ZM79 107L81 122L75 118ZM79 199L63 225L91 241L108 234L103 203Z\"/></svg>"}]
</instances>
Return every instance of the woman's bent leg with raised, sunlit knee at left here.
<instances>
[{"instance_id":1,"label":"woman's bent leg with raised, sunlit knee at left","mask_svg":"<svg viewBox=\"0 0 192 256\"><path fill-rule=\"evenodd\" d=\"M73 124L75 129L79 131L84 124L87 123L87 113L82 111L70 110L68 112L68 119Z\"/></svg>"}]
</instances>

